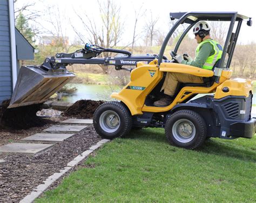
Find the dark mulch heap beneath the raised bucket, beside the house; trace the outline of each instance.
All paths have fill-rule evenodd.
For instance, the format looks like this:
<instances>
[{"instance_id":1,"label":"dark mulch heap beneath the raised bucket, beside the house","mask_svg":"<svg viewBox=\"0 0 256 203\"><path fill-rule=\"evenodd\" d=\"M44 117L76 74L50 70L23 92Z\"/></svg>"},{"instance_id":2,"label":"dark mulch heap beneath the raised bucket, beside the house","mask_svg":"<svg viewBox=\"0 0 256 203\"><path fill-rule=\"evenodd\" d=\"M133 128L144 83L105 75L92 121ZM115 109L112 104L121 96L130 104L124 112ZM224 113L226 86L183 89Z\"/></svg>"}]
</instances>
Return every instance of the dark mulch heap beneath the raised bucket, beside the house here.
<instances>
[{"instance_id":1,"label":"dark mulch heap beneath the raised bucket, beside the house","mask_svg":"<svg viewBox=\"0 0 256 203\"><path fill-rule=\"evenodd\" d=\"M42 109L42 104L8 109L9 103L10 100L6 100L0 107L0 129L5 127L29 129L32 127L42 127L51 122L36 115L37 111Z\"/></svg>"}]
</instances>

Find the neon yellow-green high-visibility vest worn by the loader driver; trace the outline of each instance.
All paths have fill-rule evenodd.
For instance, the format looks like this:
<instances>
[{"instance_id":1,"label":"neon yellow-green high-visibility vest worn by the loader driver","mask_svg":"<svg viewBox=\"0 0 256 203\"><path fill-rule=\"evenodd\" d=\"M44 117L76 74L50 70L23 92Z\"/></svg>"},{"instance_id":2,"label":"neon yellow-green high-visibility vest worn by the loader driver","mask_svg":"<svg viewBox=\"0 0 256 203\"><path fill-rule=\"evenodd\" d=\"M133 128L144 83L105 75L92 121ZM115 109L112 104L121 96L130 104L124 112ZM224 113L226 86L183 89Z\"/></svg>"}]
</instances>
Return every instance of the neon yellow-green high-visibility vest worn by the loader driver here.
<instances>
[{"instance_id":1,"label":"neon yellow-green high-visibility vest worn by the loader driver","mask_svg":"<svg viewBox=\"0 0 256 203\"><path fill-rule=\"evenodd\" d=\"M213 50L214 50L214 54L209 55L203 65L202 68L204 69L208 69L211 70L214 66L214 64L221 58L221 55L223 53L223 48L217 43L217 41L214 41L212 39L206 39L204 41L202 41L196 48L196 58L198 56L199 50L201 48L201 46L203 46L203 44L205 43L211 43Z\"/></svg>"}]
</instances>

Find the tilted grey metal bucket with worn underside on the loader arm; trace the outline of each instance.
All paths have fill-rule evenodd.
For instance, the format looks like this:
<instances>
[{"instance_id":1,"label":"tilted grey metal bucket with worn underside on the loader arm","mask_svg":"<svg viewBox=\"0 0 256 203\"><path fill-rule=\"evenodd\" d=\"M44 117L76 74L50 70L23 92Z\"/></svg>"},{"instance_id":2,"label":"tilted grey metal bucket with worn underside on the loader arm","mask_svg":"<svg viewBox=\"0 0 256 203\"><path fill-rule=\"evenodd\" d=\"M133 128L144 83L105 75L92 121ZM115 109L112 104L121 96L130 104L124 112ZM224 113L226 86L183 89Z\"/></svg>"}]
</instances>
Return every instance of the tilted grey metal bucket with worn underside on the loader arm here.
<instances>
[{"instance_id":1,"label":"tilted grey metal bucket with worn underside on the loader arm","mask_svg":"<svg viewBox=\"0 0 256 203\"><path fill-rule=\"evenodd\" d=\"M45 71L39 66L22 66L8 108L43 103L75 76L65 68Z\"/></svg>"}]
</instances>

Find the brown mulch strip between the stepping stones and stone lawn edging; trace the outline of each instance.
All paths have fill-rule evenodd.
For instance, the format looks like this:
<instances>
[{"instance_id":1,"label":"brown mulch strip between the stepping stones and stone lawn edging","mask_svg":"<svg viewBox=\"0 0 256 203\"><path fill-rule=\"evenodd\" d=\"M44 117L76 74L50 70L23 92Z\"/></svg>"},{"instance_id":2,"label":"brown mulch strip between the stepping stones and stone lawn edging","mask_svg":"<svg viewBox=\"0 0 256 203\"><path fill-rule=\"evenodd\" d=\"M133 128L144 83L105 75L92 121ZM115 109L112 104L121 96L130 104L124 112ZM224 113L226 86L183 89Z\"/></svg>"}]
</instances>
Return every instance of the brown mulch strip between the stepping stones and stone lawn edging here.
<instances>
[{"instance_id":1,"label":"brown mulch strip between the stepping stones and stone lawn edging","mask_svg":"<svg viewBox=\"0 0 256 203\"><path fill-rule=\"evenodd\" d=\"M23 199L46 178L59 172L73 158L100 140L93 127L87 127L36 157L1 154L0 159L6 160L7 163L0 165L0 202Z\"/></svg>"}]
</instances>

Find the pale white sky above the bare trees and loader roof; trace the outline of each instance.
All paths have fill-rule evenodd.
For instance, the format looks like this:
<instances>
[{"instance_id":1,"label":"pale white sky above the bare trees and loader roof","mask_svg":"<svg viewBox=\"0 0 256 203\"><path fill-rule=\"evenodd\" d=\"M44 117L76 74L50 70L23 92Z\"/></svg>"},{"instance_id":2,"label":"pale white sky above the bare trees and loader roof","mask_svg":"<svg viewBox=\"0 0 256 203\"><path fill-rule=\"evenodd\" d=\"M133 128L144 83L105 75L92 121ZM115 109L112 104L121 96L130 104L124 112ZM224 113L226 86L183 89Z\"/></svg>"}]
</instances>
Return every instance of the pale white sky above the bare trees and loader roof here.
<instances>
[{"instance_id":1,"label":"pale white sky above the bare trees and loader roof","mask_svg":"<svg viewBox=\"0 0 256 203\"><path fill-rule=\"evenodd\" d=\"M23 4L29 0L18 0L17 3ZM141 32L144 29L144 24L147 18L150 17L150 11L152 11L153 17L159 18L157 29L165 32L169 31L170 27L168 25L169 22L169 14L170 12L186 12L186 11L237 11L239 14L252 17L252 20L256 19L256 12L254 2L250 1L237 1L237 0L215 0L215 1L205 1L205 2L196 2L196 1L165 1L165 0L113 0L116 4L120 5L121 8L121 16L124 20L124 32L123 32L123 43L132 40L133 35L133 27L134 27L134 10L139 10L142 6L142 17L139 18L138 21L138 29L137 32ZM99 0L99 3L104 2L104 0ZM65 35L69 37L70 40L75 40L77 38L75 32L72 30L73 26L82 27L79 23L79 19L77 15L91 16L93 19L99 19L99 9L98 2L96 0L44 0L38 1L35 4L35 8L43 13L46 13L44 10L44 6L57 6L58 11L56 14L50 15L53 22L58 16L61 20L61 25L63 26L63 30L65 31ZM44 27L48 27L49 24L43 20L48 16L44 16L40 19L37 19L37 23L43 25ZM50 27L50 26L49 26ZM45 34L47 35L47 34ZM256 25L249 27L246 25L246 22L243 23L241 27L241 31L239 34L238 43L247 44L256 42Z\"/></svg>"}]
</instances>

